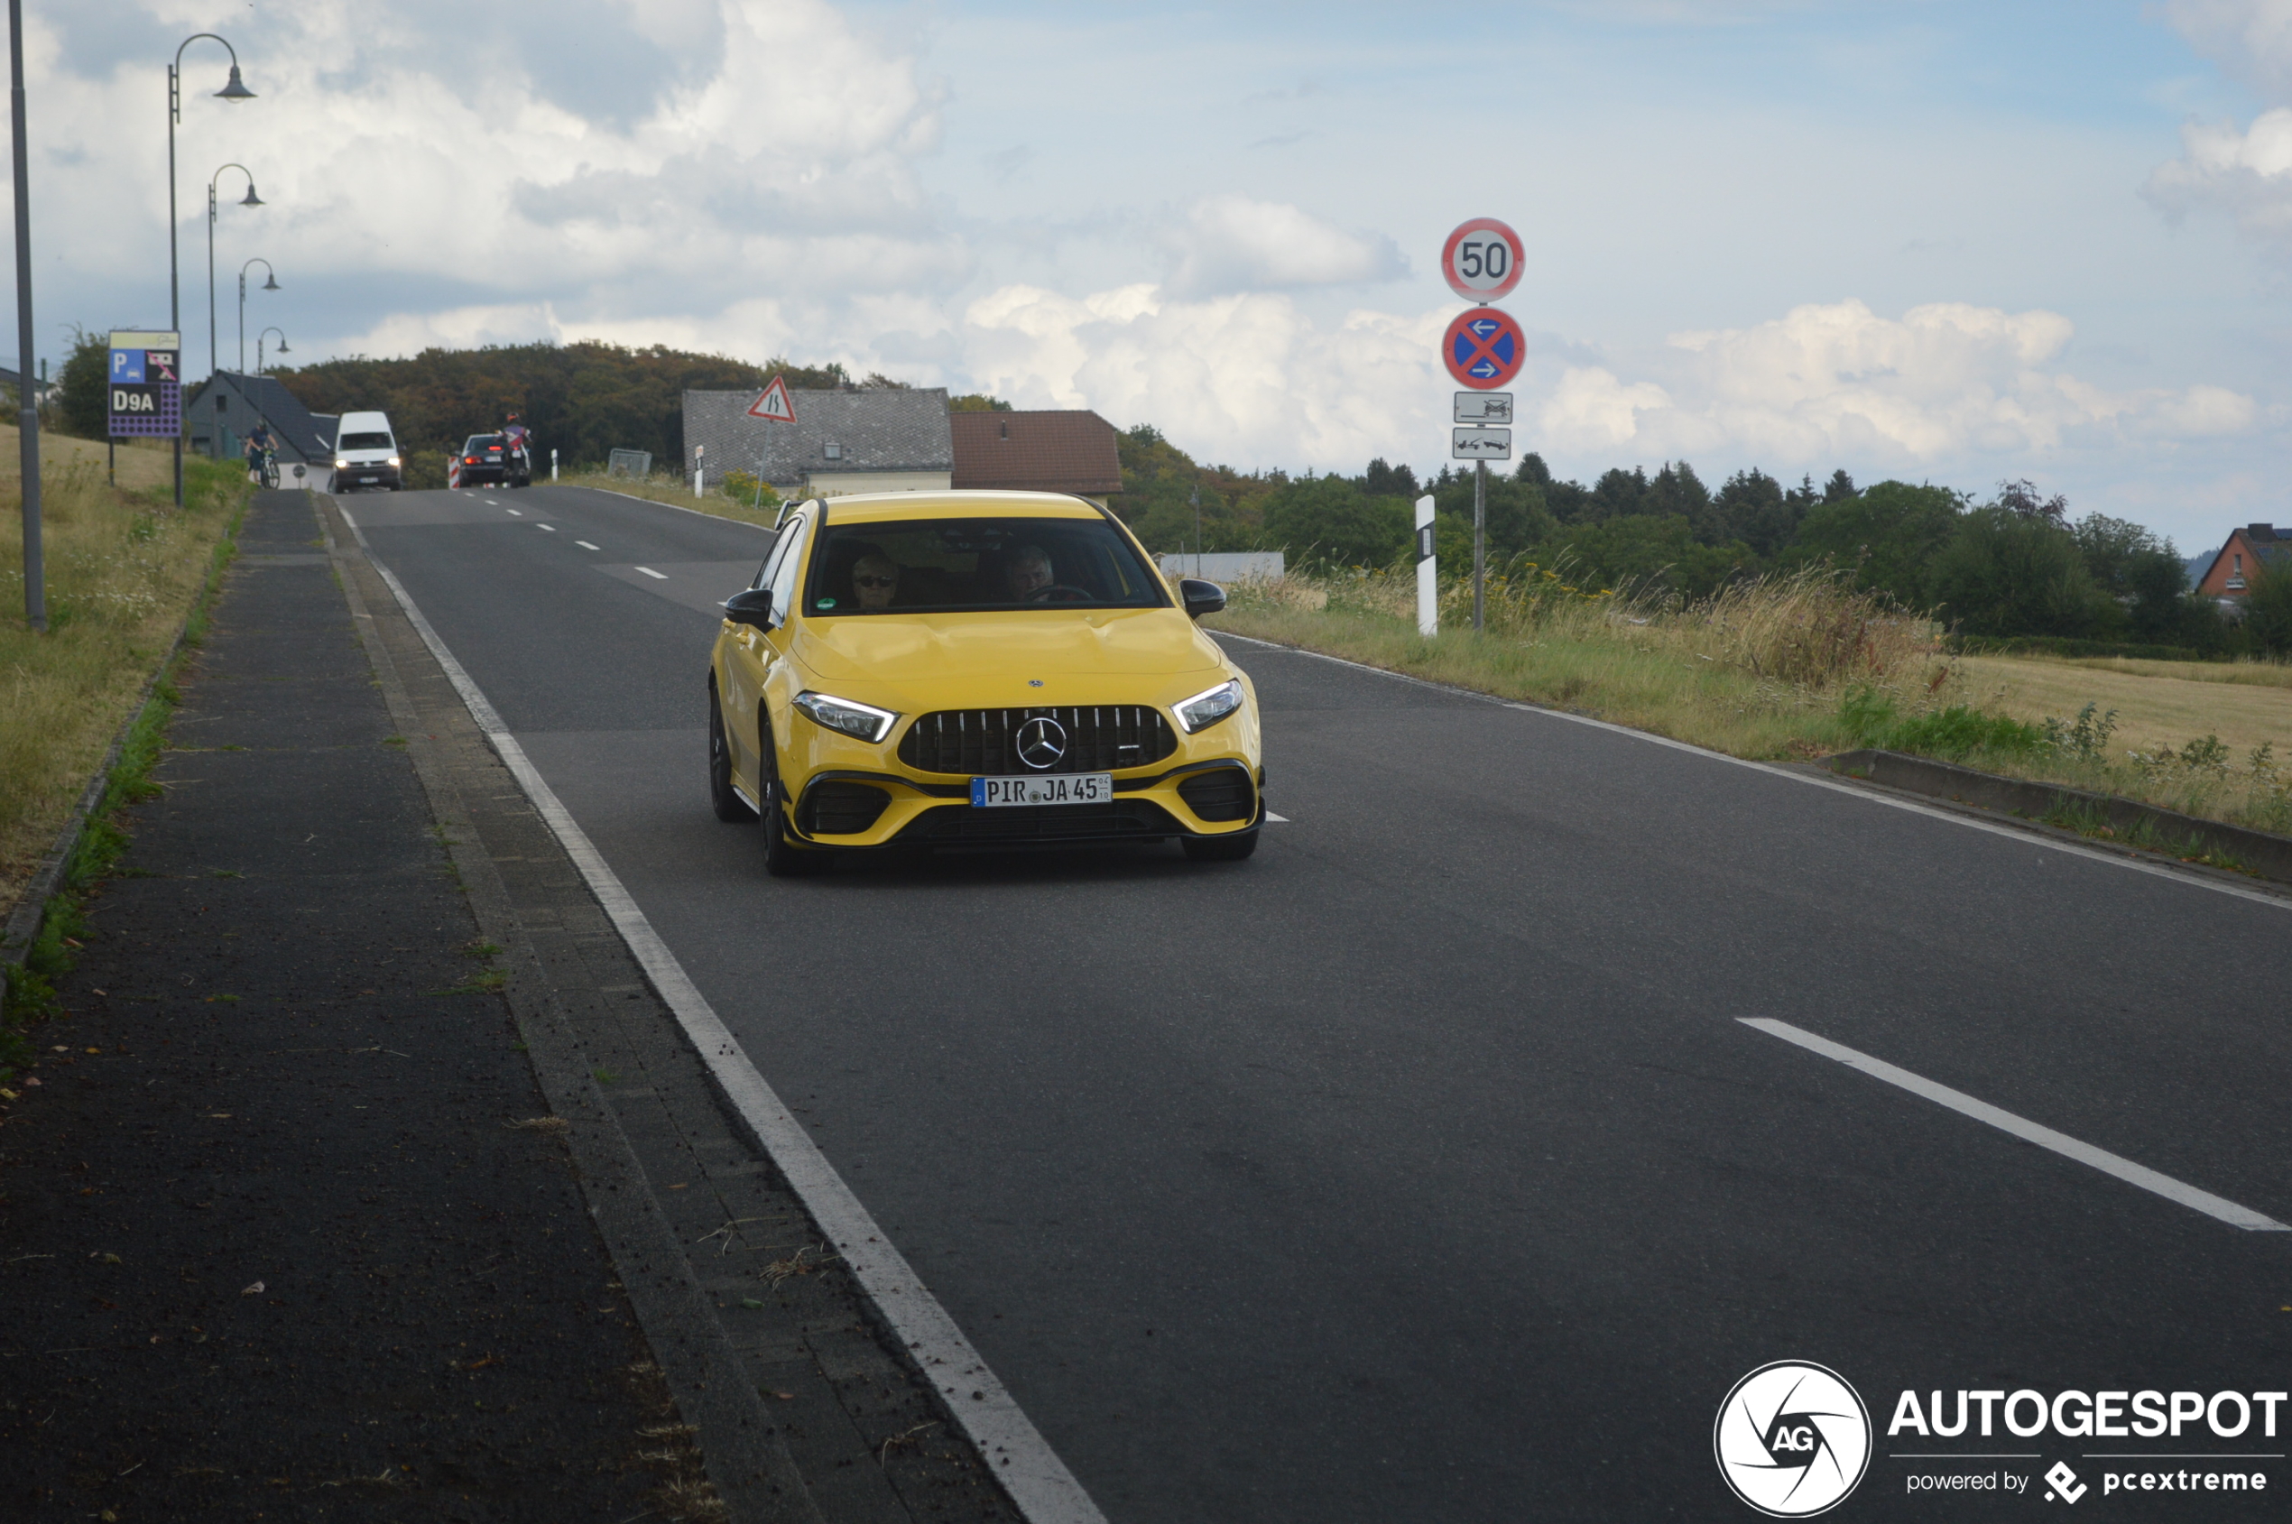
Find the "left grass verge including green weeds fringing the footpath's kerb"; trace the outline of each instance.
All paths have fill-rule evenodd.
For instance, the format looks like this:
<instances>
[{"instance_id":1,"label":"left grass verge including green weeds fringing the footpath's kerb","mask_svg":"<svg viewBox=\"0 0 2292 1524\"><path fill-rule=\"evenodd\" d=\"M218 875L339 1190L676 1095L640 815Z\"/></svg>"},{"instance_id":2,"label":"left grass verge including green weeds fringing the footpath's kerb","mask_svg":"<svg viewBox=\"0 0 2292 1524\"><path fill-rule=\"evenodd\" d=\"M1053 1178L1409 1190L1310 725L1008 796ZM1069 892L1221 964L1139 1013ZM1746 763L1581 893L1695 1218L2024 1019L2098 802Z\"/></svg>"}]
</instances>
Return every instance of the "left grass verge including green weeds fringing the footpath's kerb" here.
<instances>
[{"instance_id":1,"label":"left grass verge including green weeds fringing the footpath's kerb","mask_svg":"<svg viewBox=\"0 0 2292 1524\"><path fill-rule=\"evenodd\" d=\"M0 440L0 449L14 445L14 431L5 433L9 438ZM101 454L101 445L92 449ZM156 486L131 486L121 472L121 486L112 488L101 477L89 479L85 449L50 451L50 440L44 438L41 451L60 456L55 465L62 477L62 490L50 495L44 458L41 502L50 527L48 635L34 635L23 623L21 536L14 561L0 559L0 573L14 571L16 589L11 616L0 619L0 669L9 674L0 690L7 694L0 706L0 841L11 848L9 891L0 914L21 898L176 628L183 630L183 642L151 685L151 697L135 710L119 761L48 898L41 930L25 951L23 967L9 974L7 1004L0 1008L0 1079L14 1075L23 1059L25 1029L55 1011L55 981L71 967L71 951L85 928L87 889L126 850L126 811L158 793L151 768L165 747L167 720L181 701L174 676L206 635L250 500L245 472L231 463L186 456L183 511L176 513L170 504L172 477ZM11 481L0 486L16 488ZM62 513L50 509L57 502Z\"/></svg>"}]
</instances>

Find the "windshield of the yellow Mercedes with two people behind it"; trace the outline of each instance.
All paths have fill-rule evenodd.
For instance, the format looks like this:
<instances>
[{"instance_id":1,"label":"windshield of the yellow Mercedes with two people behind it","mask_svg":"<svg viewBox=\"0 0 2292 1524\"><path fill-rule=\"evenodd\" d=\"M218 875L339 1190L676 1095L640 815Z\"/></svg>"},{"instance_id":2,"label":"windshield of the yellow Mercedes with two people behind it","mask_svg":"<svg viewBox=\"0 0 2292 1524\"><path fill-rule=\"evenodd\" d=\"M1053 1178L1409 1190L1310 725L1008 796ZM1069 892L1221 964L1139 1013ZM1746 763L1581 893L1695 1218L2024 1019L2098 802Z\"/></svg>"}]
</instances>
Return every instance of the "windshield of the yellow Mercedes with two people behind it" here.
<instances>
[{"instance_id":1,"label":"windshield of the yellow Mercedes with two people behind it","mask_svg":"<svg viewBox=\"0 0 2292 1524\"><path fill-rule=\"evenodd\" d=\"M919 518L839 525L811 557L804 612L1167 607L1162 578L1102 518Z\"/></svg>"}]
</instances>

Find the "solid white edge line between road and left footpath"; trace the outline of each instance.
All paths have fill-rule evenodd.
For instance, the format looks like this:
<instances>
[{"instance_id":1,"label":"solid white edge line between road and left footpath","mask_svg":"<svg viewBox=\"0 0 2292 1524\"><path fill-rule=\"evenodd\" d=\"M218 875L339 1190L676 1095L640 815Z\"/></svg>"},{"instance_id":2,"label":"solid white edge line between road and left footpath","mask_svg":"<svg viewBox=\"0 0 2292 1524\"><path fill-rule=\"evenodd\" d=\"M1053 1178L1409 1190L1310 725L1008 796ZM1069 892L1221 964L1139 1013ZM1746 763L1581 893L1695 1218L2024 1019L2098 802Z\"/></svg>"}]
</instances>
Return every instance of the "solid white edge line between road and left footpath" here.
<instances>
[{"instance_id":1,"label":"solid white edge line between road and left footpath","mask_svg":"<svg viewBox=\"0 0 2292 1524\"><path fill-rule=\"evenodd\" d=\"M337 511L339 506L337 502ZM454 660L445 642L438 639L438 630L422 616L422 610L415 607L415 600L390 568L374 557L374 548L367 545L367 534L358 527L358 520L348 511L342 511L342 518L351 525L351 534L358 536L358 545L367 552L374 571L390 587L390 596L406 610L406 619L422 635L422 644L438 658L461 701L470 708L470 717L477 720L495 754L509 765L518 786L525 788L525 798L534 802L534 809L548 820L566 855L573 857L573 864L589 882L589 891L596 894L621 940L628 942L628 951L635 953L646 979L660 990L660 999L676 1013L685 1038L699 1052L717 1086L763 1141L766 1153L772 1155L772 1164L802 1199L804 1210L811 1212L821 1233L834 1240L843 1265L859 1281L876 1311L882 1313L894 1338L915 1357L924 1377L935 1382L947 1396L947 1409L979 1448L979 1458L995 1471L1004 1492L1011 1494L1020 1517L1027 1524L1107 1524L1107 1515L1098 1510L1098 1503L1082 1490L1082 1483L1066 1469L1066 1462L1050 1448L1050 1441L1043 1439L1034 1421L1020 1409L995 1373L988 1370L988 1364L979 1359L972 1341L947 1315L937 1297L924 1288L921 1276L892 1247L889 1235L876 1226L876 1217L869 1215L859 1196L843 1183L843 1176L827 1162L827 1155L811 1141L811 1134L804 1132L802 1123L795 1121L779 1095L772 1093L772 1086L766 1084L763 1075L756 1073L754 1061L740 1050L740 1043L724 1027L708 997L685 974L676 953L653 930L637 901L621 887L619 875L614 875L603 853L596 850L589 834L557 800L557 791L548 786L548 779L525 756L509 726L502 724L502 715L470 674L463 671L461 662ZM646 568L639 566L637 571ZM660 578L662 573L656 571L651 575Z\"/></svg>"}]
</instances>

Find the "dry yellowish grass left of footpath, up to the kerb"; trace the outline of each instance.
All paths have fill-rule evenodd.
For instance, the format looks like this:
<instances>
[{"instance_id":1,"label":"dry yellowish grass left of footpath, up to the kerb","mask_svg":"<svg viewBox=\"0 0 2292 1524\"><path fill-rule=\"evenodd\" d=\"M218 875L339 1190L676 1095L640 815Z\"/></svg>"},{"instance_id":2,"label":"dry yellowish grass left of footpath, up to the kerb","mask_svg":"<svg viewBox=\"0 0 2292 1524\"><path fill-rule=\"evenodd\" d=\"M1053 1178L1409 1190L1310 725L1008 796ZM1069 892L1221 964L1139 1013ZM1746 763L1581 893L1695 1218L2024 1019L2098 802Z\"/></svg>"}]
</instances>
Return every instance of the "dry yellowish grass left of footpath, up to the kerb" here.
<instances>
[{"instance_id":1,"label":"dry yellowish grass left of footpath, up to the kerb","mask_svg":"<svg viewBox=\"0 0 2292 1524\"><path fill-rule=\"evenodd\" d=\"M48 633L23 619L23 479L0 426L0 917L55 839L154 665L183 628L248 497L236 463L186 458L183 511L158 445L44 433Z\"/></svg>"}]
</instances>

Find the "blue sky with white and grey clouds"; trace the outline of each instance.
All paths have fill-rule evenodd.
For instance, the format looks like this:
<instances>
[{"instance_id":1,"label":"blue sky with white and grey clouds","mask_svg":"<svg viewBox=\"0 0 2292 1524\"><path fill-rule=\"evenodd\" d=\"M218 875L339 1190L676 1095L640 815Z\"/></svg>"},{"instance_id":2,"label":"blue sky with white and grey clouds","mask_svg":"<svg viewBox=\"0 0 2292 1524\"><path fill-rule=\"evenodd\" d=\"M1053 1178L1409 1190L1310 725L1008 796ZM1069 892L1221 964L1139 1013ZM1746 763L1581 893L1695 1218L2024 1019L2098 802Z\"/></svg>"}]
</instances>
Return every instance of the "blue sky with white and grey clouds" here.
<instances>
[{"instance_id":1,"label":"blue sky with white and grey clouds","mask_svg":"<svg viewBox=\"0 0 2292 1524\"><path fill-rule=\"evenodd\" d=\"M605 337L1446 449L1444 234L1513 222L1563 474L1843 465L2292 520L2292 0L25 0L44 353L236 270L293 358ZM257 284L261 270L257 268ZM9 339L14 341L14 339ZM11 351L14 353L14 351Z\"/></svg>"}]
</instances>

